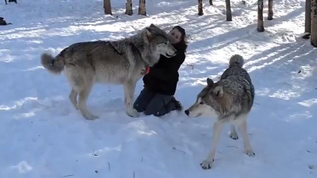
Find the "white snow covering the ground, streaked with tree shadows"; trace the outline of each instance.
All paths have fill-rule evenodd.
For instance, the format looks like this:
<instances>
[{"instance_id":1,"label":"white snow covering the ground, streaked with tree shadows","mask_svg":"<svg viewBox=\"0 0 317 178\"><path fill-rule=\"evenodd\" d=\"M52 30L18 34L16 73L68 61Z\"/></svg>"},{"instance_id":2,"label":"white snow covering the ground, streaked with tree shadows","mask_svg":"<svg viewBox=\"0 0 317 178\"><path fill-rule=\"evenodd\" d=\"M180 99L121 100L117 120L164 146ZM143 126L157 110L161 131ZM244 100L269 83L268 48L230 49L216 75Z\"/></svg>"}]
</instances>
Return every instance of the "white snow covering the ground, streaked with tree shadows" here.
<instances>
[{"instance_id":1,"label":"white snow covering the ground, streaked with tree shadows","mask_svg":"<svg viewBox=\"0 0 317 178\"><path fill-rule=\"evenodd\" d=\"M257 32L257 0L147 0L148 16L124 15L124 0L18 0L0 16L0 178L316 178L317 48L301 39L305 0L276 0L273 20ZM211 149L212 120L172 112L161 118L125 114L121 86L96 85L85 120L68 100L63 75L40 64L44 51L57 54L77 42L115 40L154 23L186 29L189 47L176 98L189 107L206 85L241 54L256 88L248 132L256 153L243 153L241 136L222 130L211 170L199 166ZM314 77L315 76L315 77ZM138 82L135 96L142 89ZM314 109L315 108L315 109ZM238 132L239 135L241 135Z\"/></svg>"}]
</instances>

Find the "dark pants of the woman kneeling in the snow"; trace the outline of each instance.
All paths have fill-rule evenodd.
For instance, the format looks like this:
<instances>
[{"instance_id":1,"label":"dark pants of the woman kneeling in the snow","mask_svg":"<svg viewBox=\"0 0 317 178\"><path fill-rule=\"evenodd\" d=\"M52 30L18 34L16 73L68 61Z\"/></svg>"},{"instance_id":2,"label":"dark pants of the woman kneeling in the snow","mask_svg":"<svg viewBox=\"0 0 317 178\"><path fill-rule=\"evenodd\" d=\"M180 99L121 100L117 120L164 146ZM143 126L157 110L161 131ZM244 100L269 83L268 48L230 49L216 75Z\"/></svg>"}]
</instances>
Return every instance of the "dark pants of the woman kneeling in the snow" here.
<instances>
[{"instance_id":1,"label":"dark pants of the woman kneeling in the snow","mask_svg":"<svg viewBox=\"0 0 317 178\"><path fill-rule=\"evenodd\" d=\"M173 95L159 94L144 88L136 98L133 107L138 112L144 112L145 115L162 116L176 110L172 98Z\"/></svg>"}]
</instances>

